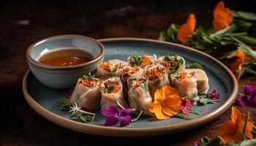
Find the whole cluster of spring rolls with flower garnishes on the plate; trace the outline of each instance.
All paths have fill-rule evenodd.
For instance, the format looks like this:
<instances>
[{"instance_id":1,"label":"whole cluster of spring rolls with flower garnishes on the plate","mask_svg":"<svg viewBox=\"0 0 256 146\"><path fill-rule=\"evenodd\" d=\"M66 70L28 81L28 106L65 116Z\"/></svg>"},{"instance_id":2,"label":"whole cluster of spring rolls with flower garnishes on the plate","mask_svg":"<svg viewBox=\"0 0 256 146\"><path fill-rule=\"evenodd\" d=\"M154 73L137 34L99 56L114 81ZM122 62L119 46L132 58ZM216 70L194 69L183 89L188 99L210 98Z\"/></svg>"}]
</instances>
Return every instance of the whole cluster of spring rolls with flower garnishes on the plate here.
<instances>
[{"instance_id":1,"label":"whole cluster of spring rolls with flower garnishes on the plate","mask_svg":"<svg viewBox=\"0 0 256 146\"><path fill-rule=\"evenodd\" d=\"M191 120L189 114L200 114L194 105L219 101L216 88L208 93L202 66L194 65L185 69L186 61L179 55L132 55L127 61L105 61L97 66L95 77L89 73L78 79L74 91L61 99L61 110L82 122L91 122L98 113L105 115L105 126L119 122L127 126L140 116Z\"/></svg>"}]
</instances>

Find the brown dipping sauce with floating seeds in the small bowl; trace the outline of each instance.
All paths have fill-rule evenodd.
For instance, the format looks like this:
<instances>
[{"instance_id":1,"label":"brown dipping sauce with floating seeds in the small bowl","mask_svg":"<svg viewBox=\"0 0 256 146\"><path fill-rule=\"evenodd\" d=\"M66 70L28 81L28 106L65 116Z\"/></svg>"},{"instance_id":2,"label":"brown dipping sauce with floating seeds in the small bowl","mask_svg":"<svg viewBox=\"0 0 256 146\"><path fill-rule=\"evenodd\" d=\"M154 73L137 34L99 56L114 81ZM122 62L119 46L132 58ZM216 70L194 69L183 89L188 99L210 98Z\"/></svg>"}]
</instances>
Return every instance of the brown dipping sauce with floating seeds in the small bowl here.
<instances>
[{"instance_id":1,"label":"brown dipping sauce with floating seeds in the small bowl","mask_svg":"<svg viewBox=\"0 0 256 146\"><path fill-rule=\"evenodd\" d=\"M78 49L53 50L42 55L38 61L48 66L75 66L93 60L91 53Z\"/></svg>"}]
</instances>

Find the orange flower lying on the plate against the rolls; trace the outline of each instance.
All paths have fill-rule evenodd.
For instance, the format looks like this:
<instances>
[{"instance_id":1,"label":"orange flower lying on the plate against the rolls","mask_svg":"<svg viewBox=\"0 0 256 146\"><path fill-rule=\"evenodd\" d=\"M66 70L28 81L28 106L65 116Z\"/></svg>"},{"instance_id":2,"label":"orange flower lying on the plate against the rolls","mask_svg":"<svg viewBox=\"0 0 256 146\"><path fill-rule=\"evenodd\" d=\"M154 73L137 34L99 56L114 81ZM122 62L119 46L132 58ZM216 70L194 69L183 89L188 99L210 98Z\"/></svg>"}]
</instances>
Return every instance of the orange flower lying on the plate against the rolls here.
<instances>
[{"instance_id":1,"label":"orange flower lying on the plate against the rolls","mask_svg":"<svg viewBox=\"0 0 256 146\"><path fill-rule=\"evenodd\" d=\"M176 115L181 110L181 97L175 88L165 85L154 93L154 102L148 106L148 111L164 120Z\"/></svg>"}]
</instances>

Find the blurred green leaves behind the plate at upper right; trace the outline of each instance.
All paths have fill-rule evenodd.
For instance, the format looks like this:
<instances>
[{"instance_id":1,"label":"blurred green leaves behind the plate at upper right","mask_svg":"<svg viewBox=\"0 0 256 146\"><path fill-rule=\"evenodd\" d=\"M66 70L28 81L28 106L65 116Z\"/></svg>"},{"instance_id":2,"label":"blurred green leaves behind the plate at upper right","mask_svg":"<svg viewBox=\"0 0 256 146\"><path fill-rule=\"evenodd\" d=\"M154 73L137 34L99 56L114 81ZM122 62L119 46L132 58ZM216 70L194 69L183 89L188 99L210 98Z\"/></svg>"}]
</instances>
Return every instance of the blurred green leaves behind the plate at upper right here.
<instances>
[{"instance_id":1,"label":"blurred green leaves behind the plate at upper right","mask_svg":"<svg viewBox=\"0 0 256 146\"><path fill-rule=\"evenodd\" d=\"M218 31L198 26L186 45L213 55L227 66L236 60L229 56L239 49L245 55L240 77L246 73L256 74L256 14L241 11L232 13L233 22L230 26ZM179 28L176 23L170 24L166 31L160 32L159 40L182 44L177 37Z\"/></svg>"}]
</instances>

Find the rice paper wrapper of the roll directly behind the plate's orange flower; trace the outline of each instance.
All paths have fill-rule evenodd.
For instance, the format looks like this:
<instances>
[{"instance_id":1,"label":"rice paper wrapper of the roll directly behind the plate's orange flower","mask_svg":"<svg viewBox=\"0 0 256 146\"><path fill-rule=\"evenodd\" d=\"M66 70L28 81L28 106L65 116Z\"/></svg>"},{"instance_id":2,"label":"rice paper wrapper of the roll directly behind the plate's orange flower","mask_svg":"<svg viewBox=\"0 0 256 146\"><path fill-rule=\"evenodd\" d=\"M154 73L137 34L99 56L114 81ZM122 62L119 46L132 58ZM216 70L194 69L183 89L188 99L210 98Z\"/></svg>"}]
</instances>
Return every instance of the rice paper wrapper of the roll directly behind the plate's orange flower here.
<instances>
[{"instance_id":1,"label":"rice paper wrapper of the roll directly behind the plate's orange flower","mask_svg":"<svg viewBox=\"0 0 256 146\"><path fill-rule=\"evenodd\" d=\"M145 69L145 77L146 78L148 78L147 75L146 75L146 72L148 70L150 70L151 67L153 67L153 66L165 67L165 66L162 66L161 64L147 66L146 69ZM162 88L164 85L170 85L167 70L165 70L165 74L163 74L162 77L160 77L159 79L157 79L157 80L148 80L149 93L151 94L151 97L153 99L154 99L154 93L157 91L157 89Z\"/></svg>"}]
</instances>

